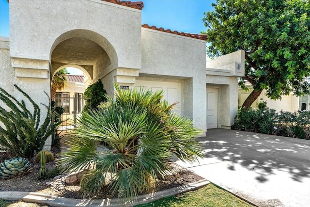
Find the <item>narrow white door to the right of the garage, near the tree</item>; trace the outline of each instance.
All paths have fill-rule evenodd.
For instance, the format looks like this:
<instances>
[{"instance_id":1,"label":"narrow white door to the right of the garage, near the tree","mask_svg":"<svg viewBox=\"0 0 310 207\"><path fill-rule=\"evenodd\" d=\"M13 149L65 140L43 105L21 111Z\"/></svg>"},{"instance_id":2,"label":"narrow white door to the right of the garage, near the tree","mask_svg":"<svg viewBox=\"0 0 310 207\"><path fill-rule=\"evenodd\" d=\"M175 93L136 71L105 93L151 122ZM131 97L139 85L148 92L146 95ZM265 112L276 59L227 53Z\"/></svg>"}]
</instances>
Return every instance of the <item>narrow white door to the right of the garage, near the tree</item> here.
<instances>
[{"instance_id":1,"label":"narrow white door to the right of the garage, near the tree","mask_svg":"<svg viewBox=\"0 0 310 207\"><path fill-rule=\"evenodd\" d=\"M207 129L217 128L217 88L207 88Z\"/></svg>"}]
</instances>

